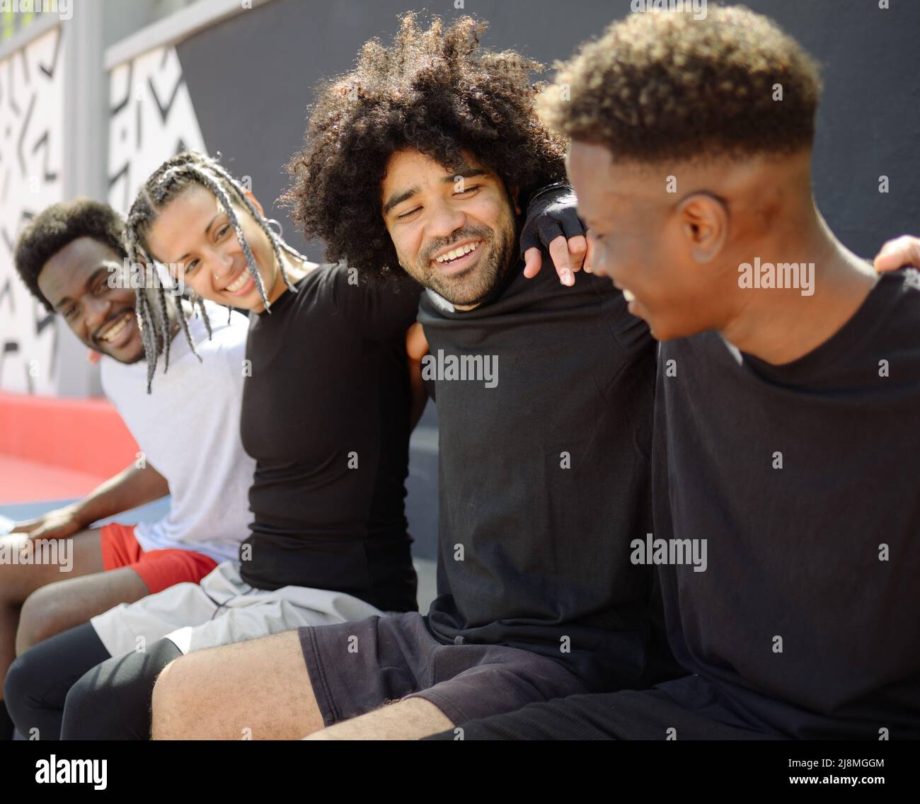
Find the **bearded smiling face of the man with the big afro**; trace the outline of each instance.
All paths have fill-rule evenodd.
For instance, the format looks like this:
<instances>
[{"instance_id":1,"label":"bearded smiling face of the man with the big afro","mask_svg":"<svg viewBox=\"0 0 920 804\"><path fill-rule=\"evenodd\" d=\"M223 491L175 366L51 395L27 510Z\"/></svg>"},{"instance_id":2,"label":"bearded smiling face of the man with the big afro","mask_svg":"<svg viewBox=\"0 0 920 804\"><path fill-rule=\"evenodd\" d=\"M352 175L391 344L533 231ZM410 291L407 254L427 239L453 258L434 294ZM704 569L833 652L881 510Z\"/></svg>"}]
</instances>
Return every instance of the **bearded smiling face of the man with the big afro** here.
<instances>
[{"instance_id":1,"label":"bearded smiling face of the man with the big afro","mask_svg":"<svg viewBox=\"0 0 920 804\"><path fill-rule=\"evenodd\" d=\"M515 257L512 199L469 155L455 171L418 151L397 151L381 184L386 230L415 281L469 309L495 288Z\"/></svg>"}]
</instances>

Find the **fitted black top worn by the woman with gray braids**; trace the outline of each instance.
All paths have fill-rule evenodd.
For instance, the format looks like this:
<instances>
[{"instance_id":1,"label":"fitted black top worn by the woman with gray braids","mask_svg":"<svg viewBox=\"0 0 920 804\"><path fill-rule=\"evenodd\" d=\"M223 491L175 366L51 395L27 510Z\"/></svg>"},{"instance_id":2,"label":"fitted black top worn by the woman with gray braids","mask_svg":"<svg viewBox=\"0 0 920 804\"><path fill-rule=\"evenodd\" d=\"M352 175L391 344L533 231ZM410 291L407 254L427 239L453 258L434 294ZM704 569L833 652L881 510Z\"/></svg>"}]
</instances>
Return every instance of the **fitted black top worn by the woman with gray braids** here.
<instances>
[{"instance_id":1,"label":"fitted black top worn by the woman with gray braids","mask_svg":"<svg viewBox=\"0 0 920 804\"><path fill-rule=\"evenodd\" d=\"M415 611L404 514L410 391L410 281L353 284L344 266L297 282L250 316L240 417L256 460L252 535L241 575L348 592L385 611Z\"/></svg>"}]
</instances>

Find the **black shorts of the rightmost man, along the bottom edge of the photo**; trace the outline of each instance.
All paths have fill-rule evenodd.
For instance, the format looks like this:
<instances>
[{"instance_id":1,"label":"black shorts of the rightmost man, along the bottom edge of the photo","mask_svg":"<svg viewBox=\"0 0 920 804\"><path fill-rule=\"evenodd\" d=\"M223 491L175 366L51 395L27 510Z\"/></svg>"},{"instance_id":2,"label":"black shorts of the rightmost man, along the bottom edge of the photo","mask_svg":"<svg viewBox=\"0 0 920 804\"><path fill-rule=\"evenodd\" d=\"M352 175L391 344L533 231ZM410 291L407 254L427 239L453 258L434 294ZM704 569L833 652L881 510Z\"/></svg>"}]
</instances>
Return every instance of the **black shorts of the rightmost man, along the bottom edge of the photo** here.
<instances>
[{"instance_id":1,"label":"black shorts of the rightmost man, along the bottom edge of the photo","mask_svg":"<svg viewBox=\"0 0 920 804\"><path fill-rule=\"evenodd\" d=\"M669 695L669 692L673 695ZM676 699L675 699L676 698ZM464 724L464 740L780 740L754 729L698 676L650 690L572 695ZM427 740L455 740L443 731Z\"/></svg>"}]
</instances>

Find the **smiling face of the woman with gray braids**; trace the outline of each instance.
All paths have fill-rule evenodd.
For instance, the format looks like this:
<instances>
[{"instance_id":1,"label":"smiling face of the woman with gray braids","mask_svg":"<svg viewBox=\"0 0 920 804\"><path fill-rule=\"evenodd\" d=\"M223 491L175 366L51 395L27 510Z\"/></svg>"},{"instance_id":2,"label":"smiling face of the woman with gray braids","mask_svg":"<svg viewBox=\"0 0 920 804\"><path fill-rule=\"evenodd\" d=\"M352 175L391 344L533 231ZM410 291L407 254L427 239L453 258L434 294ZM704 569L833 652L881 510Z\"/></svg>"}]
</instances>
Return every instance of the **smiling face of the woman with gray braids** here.
<instances>
[{"instance_id":1,"label":"smiling face of the woman with gray braids","mask_svg":"<svg viewBox=\"0 0 920 804\"><path fill-rule=\"evenodd\" d=\"M258 201L253 201L261 212ZM279 295L275 285L281 271L277 270L268 235L247 210L236 205L234 210L273 302ZM243 247L224 207L210 190L192 184L168 201L150 224L146 242L151 257L169 266L174 278L181 275L190 290L202 298L257 313L265 309Z\"/></svg>"}]
</instances>

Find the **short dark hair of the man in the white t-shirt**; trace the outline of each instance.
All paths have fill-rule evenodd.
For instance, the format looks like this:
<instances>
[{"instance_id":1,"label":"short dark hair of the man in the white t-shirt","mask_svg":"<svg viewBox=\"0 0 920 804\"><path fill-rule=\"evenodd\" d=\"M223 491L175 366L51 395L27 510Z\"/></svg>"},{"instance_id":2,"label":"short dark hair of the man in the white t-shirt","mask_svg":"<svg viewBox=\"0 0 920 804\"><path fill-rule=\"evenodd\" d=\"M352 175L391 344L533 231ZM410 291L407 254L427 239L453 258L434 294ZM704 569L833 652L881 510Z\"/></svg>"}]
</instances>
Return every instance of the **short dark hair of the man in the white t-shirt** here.
<instances>
[{"instance_id":1,"label":"short dark hair of the man in the white t-shirt","mask_svg":"<svg viewBox=\"0 0 920 804\"><path fill-rule=\"evenodd\" d=\"M36 215L22 230L13 251L16 270L49 313L51 303L39 290L39 274L55 254L80 237L92 237L125 258L124 222L109 204L86 198L63 201Z\"/></svg>"}]
</instances>

